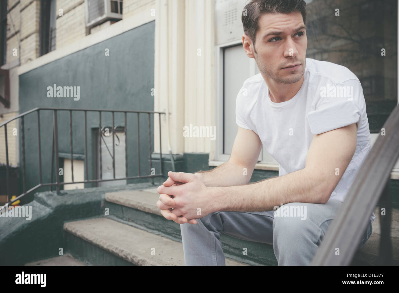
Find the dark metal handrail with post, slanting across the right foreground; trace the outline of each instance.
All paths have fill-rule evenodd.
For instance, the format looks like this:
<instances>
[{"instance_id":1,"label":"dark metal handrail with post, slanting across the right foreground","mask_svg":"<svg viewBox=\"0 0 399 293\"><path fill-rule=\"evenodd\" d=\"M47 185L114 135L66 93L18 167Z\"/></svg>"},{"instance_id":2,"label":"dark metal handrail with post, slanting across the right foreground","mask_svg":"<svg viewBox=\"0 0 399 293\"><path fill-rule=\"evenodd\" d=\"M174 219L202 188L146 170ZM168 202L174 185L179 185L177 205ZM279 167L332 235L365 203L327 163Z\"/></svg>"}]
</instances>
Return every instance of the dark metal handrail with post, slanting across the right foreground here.
<instances>
[{"instance_id":1,"label":"dark metal handrail with post, slanting across the right foreground","mask_svg":"<svg viewBox=\"0 0 399 293\"><path fill-rule=\"evenodd\" d=\"M361 236L380 197L385 215L380 217L379 265L391 262L391 194L389 178L399 157L399 105L388 117L380 135L364 159L354 183L332 221L311 265L348 265L358 248ZM339 254L336 252L339 248Z\"/></svg>"}]
</instances>

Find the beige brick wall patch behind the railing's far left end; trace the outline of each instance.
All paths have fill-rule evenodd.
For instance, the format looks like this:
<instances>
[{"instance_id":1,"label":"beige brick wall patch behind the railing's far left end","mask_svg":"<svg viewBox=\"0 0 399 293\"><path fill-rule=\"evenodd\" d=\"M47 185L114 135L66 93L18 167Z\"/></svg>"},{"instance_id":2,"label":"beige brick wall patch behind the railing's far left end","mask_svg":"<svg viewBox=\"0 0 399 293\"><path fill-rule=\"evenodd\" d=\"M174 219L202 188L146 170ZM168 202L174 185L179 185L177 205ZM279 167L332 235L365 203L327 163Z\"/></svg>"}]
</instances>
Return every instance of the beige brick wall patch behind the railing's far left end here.
<instances>
[{"instance_id":1,"label":"beige brick wall patch behind the railing's far left end","mask_svg":"<svg viewBox=\"0 0 399 293\"><path fill-rule=\"evenodd\" d=\"M17 112L10 112L10 113L5 113L2 114L3 117L0 117L0 124L3 122L6 122L8 119L11 119L18 115ZM13 136L13 129L17 129L17 136ZM7 141L8 141L8 163L12 167L17 166L17 152L18 152L18 135L19 135L19 129L18 129L18 119L13 120L7 124ZM4 139L4 126L0 127L0 141L3 142L0 144L0 163L6 163L6 145L5 145L5 139Z\"/></svg>"}]
</instances>

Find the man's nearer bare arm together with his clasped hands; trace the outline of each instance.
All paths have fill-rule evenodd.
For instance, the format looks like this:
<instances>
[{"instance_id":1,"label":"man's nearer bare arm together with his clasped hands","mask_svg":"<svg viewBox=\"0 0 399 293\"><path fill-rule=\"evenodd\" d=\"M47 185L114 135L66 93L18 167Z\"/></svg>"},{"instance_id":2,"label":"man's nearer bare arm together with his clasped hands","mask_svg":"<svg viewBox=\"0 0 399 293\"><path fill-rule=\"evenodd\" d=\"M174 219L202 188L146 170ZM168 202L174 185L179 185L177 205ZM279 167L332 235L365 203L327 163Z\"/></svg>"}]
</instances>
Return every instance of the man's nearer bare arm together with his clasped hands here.
<instances>
[{"instance_id":1,"label":"man's nearer bare arm together with his clasped hands","mask_svg":"<svg viewBox=\"0 0 399 293\"><path fill-rule=\"evenodd\" d=\"M207 187L193 174L169 172L174 181L184 184L158 187L157 206L167 219L179 224L190 219L189 223L196 224L195 219L222 210L273 210L275 206L292 202L324 204L348 167L355 149L356 124L352 124L315 135L305 168L281 177L247 185ZM198 208L201 208L200 214ZM182 218L176 220L176 216Z\"/></svg>"}]
</instances>

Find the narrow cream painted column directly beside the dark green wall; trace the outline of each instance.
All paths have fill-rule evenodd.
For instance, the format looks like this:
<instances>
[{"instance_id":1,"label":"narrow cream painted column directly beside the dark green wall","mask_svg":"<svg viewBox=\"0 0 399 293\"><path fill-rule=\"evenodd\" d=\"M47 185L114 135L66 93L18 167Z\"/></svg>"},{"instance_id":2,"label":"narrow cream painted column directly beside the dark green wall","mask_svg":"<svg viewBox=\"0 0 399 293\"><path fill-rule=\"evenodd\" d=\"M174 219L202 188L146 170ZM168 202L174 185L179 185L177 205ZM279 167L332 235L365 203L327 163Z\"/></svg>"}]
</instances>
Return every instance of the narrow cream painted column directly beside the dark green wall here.
<instances>
[{"instance_id":1,"label":"narrow cream painted column directly beside the dark green wall","mask_svg":"<svg viewBox=\"0 0 399 293\"><path fill-rule=\"evenodd\" d=\"M154 111L161 116L162 153L168 153L168 130L172 153L184 150L184 0L156 0ZM154 152L159 153L159 120L154 116Z\"/></svg>"}]
</instances>

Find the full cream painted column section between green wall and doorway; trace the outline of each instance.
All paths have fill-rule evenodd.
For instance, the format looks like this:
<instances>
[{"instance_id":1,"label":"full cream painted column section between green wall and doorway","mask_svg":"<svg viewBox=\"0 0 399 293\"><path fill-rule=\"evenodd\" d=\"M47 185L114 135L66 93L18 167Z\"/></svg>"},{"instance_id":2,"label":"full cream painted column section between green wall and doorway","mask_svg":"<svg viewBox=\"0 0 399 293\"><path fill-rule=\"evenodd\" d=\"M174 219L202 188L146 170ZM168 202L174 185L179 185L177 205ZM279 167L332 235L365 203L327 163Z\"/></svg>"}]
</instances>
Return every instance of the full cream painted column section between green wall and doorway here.
<instances>
[{"instance_id":1,"label":"full cream painted column section between green wall and doorway","mask_svg":"<svg viewBox=\"0 0 399 293\"><path fill-rule=\"evenodd\" d=\"M216 126L214 0L157 0L155 20L155 111L169 109L172 153L209 152L215 141L183 137L183 127ZM154 152L159 152L154 119ZM168 124L161 119L162 153L168 153ZM216 131L222 131L216 129Z\"/></svg>"}]
</instances>

